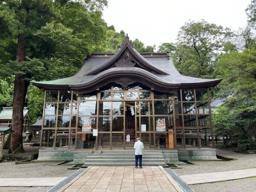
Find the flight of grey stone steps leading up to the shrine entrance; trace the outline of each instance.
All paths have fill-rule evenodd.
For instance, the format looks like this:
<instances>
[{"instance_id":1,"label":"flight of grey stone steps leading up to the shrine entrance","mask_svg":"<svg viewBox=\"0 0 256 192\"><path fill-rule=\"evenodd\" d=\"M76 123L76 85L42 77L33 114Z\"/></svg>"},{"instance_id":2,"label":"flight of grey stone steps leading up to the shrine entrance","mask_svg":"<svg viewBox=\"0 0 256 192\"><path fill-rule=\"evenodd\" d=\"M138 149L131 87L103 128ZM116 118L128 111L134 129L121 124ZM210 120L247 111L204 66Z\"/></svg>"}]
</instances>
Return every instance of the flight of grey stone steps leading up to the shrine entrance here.
<instances>
[{"instance_id":1,"label":"flight of grey stone steps leading up to the shrine entrance","mask_svg":"<svg viewBox=\"0 0 256 192\"><path fill-rule=\"evenodd\" d=\"M87 166L134 166L134 150L93 151L88 154L83 167ZM143 166L167 166L162 151L144 150Z\"/></svg>"}]
</instances>

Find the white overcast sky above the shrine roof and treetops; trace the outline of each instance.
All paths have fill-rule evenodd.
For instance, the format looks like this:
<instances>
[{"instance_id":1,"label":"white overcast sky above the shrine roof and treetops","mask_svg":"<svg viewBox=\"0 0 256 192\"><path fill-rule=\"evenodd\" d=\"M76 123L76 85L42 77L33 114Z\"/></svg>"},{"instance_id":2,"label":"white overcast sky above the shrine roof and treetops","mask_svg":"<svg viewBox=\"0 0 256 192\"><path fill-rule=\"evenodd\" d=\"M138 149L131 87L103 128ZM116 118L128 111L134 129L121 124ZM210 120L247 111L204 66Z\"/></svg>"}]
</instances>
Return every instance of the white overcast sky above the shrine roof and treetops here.
<instances>
[{"instance_id":1,"label":"white overcast sky above the shrine roof and treetops","mask_svg":"<svg viewBox=\"0 0 256 192\"><path fill-rule=\"evenodd\" d=\"M130 40L159 46L175 42L180 27L190 20L205 19L236 30L246 26L250 0L108 0L103 19Z\"/></svg>"}]
</instances>

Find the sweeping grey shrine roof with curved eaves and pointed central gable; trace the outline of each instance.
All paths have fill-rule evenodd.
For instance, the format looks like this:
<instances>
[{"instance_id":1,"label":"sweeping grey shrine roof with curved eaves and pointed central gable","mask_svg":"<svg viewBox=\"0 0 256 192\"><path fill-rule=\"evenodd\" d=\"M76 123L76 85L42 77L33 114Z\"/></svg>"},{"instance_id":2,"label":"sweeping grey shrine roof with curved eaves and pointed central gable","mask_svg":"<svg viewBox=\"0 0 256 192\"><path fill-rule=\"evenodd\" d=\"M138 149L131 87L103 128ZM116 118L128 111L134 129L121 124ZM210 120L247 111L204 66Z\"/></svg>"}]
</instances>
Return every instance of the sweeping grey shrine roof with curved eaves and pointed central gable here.
<instances>
[{"instance_id":1,"label":"sweeping grey shrine roof with curved eaves and pointed central gable","mask_svg":"<svg viewBox=\"0 0 256 192\"><path fill-rule=\"evenodd\" d=\"M127 80L128 79L128 80ZM31 82L43 89L96 90L116 81L141 81L151 87L185 88L216 86L221 79L200 79L181 75L166 53L138 53L126 38L115 54L92 54L74 76Z\"/></svg>"}]
</instances>

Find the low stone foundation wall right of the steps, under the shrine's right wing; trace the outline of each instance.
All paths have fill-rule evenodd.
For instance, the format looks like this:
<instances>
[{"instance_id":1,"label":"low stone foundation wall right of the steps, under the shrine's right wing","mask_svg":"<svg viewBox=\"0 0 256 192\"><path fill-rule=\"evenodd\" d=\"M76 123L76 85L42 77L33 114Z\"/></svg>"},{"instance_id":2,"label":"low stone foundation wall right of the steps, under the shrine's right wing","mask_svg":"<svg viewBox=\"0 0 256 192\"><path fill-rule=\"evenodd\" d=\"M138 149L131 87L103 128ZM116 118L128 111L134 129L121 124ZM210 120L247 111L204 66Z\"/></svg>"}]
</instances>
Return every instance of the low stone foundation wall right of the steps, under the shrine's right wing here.
<instances>
[{"instance_id":1,"label":"low stone foundation wall right of the steps, under the shrine's right wing","mask_svg":"<svg viewBox=\"0 0 256 192\"><path fill-rule=\"evenodd\" d=\"M216 160L215 148L180 148L179 160Z\"/></svg>"}]
</instances>

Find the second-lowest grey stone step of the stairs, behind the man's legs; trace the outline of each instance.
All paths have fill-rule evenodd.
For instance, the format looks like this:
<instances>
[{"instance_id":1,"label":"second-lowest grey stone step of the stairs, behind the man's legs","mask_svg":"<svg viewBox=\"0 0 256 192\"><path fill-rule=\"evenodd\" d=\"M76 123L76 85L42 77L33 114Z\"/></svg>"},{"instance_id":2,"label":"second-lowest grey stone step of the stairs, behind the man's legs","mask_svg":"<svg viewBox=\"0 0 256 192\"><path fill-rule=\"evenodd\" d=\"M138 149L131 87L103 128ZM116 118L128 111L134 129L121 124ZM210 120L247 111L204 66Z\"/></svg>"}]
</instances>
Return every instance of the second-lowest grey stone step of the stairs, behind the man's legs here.
<instances>
[{"instance_id":1,"label":"second-lowest grey stone step of the stairs, behind the man's legs","mask_svg":"<svg viewBox=\"0 0 256 192\"><path fill-rule=\"evenodd\" d=\"M134 159L86 159L85 163L132 163ZM143 159L145 163L164 163L164 159Z\"/></svg>"}]
</instances>

